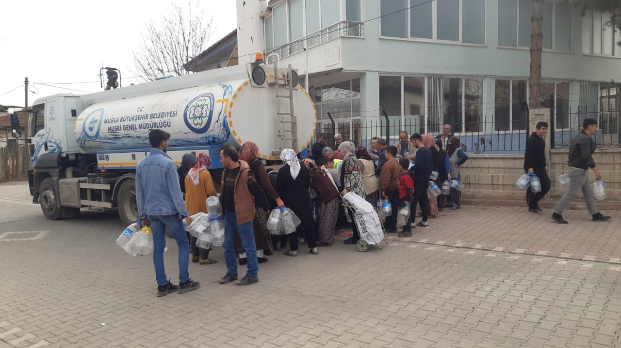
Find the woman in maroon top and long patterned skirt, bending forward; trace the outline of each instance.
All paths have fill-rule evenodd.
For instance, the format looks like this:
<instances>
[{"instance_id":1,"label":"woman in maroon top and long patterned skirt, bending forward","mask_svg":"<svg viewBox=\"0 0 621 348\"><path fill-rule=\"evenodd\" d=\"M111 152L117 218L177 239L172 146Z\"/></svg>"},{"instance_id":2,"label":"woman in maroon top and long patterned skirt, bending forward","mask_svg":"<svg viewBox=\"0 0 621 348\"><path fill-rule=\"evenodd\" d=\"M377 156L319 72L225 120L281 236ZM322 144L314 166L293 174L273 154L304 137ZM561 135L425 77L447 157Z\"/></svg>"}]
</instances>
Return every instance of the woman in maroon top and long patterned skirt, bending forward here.
<instances>
[{"instance_id":1,"label":"woman in maroon top and long patterned skirt, bending forward","mask_svg":"<svg viewBox=\"0 0 621 348\"><path fill-rule=\"evenodd\" d=\"M302 160L311 175L311 185L317 191L319 205L317 220L317 246L330 246L336 234L338 215L338 189L332 175L317 167L313 160Z\"/></svg>"}]
</instances>

